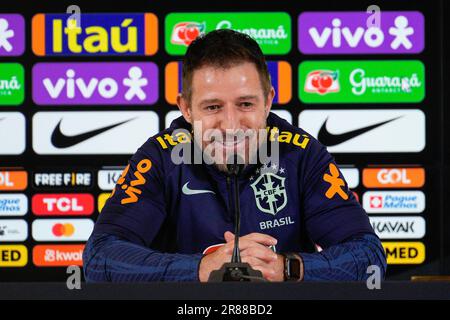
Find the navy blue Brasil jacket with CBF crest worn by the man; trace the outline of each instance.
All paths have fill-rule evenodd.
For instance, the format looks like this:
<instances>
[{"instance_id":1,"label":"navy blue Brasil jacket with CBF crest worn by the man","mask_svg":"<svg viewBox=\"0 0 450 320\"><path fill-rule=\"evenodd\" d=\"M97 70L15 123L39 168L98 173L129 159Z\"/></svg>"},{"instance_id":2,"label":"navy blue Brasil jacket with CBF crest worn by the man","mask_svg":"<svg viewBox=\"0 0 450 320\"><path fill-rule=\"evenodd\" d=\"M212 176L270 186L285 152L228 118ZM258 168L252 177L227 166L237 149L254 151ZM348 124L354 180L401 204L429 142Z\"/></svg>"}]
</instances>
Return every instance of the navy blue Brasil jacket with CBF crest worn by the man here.
<instances>
[{"instance_id":1,"label":"navy blue Brasil jacket with CBF crest worn by the man","mask_svg":"<svg viewBox=\"0 0 450 320\"><path fill-rule=\"evenodd\" d=\"M366 212L326 148L270 113L277 163L245 167L239 177L241 236L278 240L297 252L305 280L363 280L386 259ZM201 257L234 230L233 184L214 165L175 164L171 152L191 130L182 118L130 159L99 215L83 256L88 281L195 281ZM314 252L311 246L320 247Z\"/></svg>"}]
</instances>

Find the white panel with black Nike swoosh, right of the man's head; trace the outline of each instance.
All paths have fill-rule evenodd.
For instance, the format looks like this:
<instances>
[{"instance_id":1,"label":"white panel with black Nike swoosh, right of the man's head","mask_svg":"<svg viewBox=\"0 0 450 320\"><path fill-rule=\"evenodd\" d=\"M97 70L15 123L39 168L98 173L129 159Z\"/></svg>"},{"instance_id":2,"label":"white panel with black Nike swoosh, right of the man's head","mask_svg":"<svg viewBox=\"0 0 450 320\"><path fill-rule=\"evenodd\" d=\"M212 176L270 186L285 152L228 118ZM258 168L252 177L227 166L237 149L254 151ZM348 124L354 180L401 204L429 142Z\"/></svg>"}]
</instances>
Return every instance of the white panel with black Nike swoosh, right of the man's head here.
<instances>
[{"instance_id":1,"label":"white panel with black Nike swoosh, right of the man's head","mask_svg":"<svg viewBox=\"0 0 450 320\"><path fill-rule=\"evenodd\" d=\"M420 152L425 148L421 110L305 110L299 125L330 152Z\"/></svg>"}]
</instances>

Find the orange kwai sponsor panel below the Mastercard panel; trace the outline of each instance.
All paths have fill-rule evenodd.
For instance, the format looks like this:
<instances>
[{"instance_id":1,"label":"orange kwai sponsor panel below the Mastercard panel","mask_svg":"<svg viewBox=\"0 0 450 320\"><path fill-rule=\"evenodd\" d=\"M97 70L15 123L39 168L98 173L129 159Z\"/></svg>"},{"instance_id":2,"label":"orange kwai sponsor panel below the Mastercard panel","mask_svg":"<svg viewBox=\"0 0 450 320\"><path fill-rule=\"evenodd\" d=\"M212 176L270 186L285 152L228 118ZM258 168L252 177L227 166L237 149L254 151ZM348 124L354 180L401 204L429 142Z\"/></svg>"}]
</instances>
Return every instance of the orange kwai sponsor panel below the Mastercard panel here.
<instances>
[{"instance_id":1,"label":"orange kwai sponsor panel below the Mastercard panel","mask_svg":"<svg viewBox=\"0 0 450 320\"><path fill-rule=\"evenodd\" d=\"M83 265L83 244L37 245L33 248L33 263L37 267Z\"/></svg>"}]
</instances>

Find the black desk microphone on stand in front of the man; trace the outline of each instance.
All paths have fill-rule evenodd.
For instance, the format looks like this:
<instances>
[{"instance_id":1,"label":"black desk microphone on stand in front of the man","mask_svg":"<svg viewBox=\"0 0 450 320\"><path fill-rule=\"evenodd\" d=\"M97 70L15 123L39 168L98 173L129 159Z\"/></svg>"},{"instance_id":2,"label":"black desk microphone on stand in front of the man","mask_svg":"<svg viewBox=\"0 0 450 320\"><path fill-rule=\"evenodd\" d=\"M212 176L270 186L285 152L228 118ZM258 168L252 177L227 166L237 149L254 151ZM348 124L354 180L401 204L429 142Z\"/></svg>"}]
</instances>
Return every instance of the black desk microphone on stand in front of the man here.
<instances>
[{"instance_id":1,"label":"black desk microphone on stand in front of the man","mask_svg":"<svg viewBox=\"0 0 450 320\"><path fill-rule=\"evenodd\" d=\"M244 161L234 155L233 159L227 161L228 177L233 179L233 200L234 200L234 247L231 262L224 263L219 270L214 270L209 275L208 282L225 282L225 281L266 281L261 271L253 269L248 263L241 261L241 253L239 250L239 235L241 230L241 208L239 202L239 176L244 169ZM231 196L231 195L230 195Z\"/></svg>"}]
</instances>

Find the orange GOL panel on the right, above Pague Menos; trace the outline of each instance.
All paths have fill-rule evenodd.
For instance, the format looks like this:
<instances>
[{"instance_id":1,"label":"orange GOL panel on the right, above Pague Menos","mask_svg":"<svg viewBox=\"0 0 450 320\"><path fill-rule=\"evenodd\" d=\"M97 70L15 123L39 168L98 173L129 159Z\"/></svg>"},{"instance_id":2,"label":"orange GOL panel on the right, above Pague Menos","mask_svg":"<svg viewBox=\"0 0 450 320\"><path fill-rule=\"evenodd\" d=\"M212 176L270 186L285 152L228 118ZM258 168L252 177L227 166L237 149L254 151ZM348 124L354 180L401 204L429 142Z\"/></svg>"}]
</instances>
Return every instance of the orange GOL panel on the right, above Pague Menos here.
<instances>
[{"instance_id":1,"label":"orange GOL panel on the right, above Pague Menos","mask_svg":"<svg viewBox=\"0 0 450 320\"><path fill-rule=\"evenodd\" d=\"M421 188L425 184L423 168L364 169L366 188Z\"/></svg>"}]
</instances>

